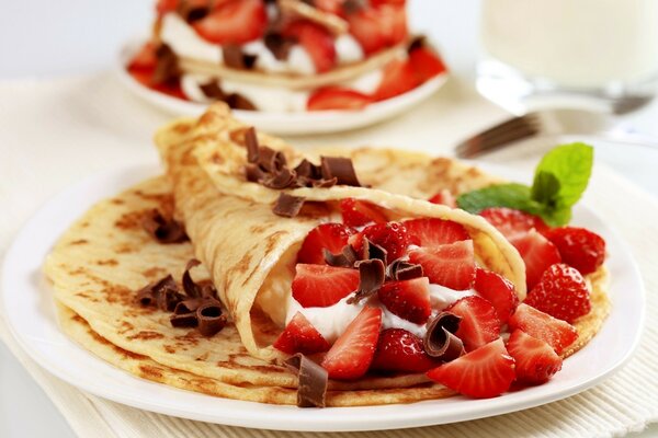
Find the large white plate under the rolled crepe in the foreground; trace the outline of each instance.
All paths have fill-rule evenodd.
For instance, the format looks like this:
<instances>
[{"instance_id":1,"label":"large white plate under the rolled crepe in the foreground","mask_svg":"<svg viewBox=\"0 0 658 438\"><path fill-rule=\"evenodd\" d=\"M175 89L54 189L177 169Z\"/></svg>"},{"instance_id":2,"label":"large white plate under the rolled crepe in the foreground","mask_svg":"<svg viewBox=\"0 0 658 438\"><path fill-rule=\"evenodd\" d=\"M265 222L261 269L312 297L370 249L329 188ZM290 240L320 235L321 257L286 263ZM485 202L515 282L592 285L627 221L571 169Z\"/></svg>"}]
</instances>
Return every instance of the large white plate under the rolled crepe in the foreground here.
<instances>
[{"instance_id":1,"label":"large white plate under the rolled crepe in the foreground","mask_svg":"<svg viewBox=\"0 0 658 438\"><path fill-rule=\"evenodd\" d=\"M576 394L617 370L638 343L644 289L636 264L612 230L580 206L574 222L602 234L608 242L613 308L594 339L565 360L563 370L546 384L489 400L455 396L407 405L300 410L213 397L141 380L89 354L59 331L42 264L58 237L92 204L158 172L155 165L124 168L65 191L27 222L7 253L0 302L13 336L42 367L92 394L162 414L256 428L339 431L417 427L504 414Z\"/></svg>"}]
</instances>

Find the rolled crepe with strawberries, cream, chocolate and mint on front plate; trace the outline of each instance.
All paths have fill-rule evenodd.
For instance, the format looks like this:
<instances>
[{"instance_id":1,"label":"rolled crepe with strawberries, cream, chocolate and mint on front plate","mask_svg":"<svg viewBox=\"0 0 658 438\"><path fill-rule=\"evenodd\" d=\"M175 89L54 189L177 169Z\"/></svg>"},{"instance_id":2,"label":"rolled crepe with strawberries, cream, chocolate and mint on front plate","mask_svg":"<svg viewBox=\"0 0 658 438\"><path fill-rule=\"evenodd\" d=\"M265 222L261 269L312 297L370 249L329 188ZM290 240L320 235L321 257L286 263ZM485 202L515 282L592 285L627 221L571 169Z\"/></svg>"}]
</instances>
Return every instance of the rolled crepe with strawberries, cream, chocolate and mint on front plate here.
<instances>
[{"instance_id":1,"label":"rolled crepe with strawberries, cream, chocolate and mint on front plate","mask_svg":"<svg viewBox=\"0 0 658 438\"><path fill-rule=\"evenodd\" d=\"M299 406L491 397L548 381L610 311L605 243L567 224L585 145L529 187L408 151L302 153L225 104L156 143L164 175L92 207L45 267L63 330L146 379Z\"/></svg>"}]
</instances>

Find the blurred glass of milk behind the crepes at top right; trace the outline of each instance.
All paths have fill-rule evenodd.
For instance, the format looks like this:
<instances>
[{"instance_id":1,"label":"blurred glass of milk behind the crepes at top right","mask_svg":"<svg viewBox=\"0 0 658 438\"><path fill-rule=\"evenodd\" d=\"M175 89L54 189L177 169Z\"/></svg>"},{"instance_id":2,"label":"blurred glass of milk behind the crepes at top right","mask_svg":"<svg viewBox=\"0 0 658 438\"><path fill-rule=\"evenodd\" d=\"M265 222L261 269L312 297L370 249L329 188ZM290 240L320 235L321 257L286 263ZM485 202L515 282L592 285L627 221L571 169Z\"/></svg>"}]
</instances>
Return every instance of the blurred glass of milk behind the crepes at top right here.
<instances>
[{"instance_id":1,"label":"blurred glass of milk behind the crepes at top right","mask_svg":"<svg viewBox=\"0 0 658 438\"><path fill-rule=\"evenodd\" d=\"M658 0L483 0L480 43L478 90L512 112L657 91Z\"/></svg>"}]
</instances>

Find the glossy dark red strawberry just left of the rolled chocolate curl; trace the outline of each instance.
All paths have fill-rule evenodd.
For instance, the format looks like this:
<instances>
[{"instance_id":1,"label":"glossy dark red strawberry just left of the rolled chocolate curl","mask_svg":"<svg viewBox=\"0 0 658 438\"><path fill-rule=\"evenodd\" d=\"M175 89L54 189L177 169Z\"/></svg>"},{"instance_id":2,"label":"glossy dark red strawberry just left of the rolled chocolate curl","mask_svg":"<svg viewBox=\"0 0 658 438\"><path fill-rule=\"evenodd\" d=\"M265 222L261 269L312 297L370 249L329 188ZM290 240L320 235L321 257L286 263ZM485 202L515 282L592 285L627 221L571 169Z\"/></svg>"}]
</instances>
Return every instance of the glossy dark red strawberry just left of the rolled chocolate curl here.
<instances>
[{"instance_id":1,"label":"glossy dark red strawberry just left of the rolled chocolate curl","mask_svg":"<svg viewBox=\"0 0 658 438\"><path fill-rule=\"evenodd\" d=\"M422 339L404 328L386 328L379 334L371 369L426 372L438 364L422 346Z\"/></svg>"}]
</instances>

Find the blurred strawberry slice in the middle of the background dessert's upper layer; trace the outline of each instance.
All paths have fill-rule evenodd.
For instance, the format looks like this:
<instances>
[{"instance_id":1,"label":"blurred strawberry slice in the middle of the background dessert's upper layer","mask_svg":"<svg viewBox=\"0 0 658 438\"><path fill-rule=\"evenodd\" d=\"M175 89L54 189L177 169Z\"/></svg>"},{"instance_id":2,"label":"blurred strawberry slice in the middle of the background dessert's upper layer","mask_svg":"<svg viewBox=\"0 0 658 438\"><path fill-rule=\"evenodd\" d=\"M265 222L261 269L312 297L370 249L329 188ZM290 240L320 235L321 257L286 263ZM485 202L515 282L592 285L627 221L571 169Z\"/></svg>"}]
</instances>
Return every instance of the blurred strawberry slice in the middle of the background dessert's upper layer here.
<instances>
[{"instance_id":1,"label":"blurred strawberry slice in the middle of the background dessert's upper layer","mask_svg":"<svg viewBox=\"0 0 658 438\"><path fill-rule=\"evenodd\" d=\"M298 20L290 23L283 35L294 36L299 41L318 72L329 71L336 66L333 36L325 27L311 21Z\"/></svg>"}]
</instances>

